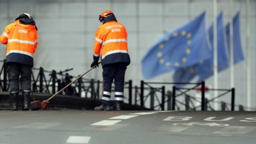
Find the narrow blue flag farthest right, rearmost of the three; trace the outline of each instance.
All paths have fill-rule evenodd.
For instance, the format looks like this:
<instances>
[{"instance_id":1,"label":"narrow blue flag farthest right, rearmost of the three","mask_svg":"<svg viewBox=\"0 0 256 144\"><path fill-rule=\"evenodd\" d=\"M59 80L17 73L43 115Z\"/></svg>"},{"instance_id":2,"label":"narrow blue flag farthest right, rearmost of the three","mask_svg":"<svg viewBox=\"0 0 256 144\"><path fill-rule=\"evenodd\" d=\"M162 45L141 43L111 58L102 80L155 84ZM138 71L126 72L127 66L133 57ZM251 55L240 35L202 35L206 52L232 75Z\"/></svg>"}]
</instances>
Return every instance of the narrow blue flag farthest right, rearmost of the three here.
<instances>
[{"instance_id":1,"label":"narrow blue flag farthest right, rearmost of the three","mask_svg":"<svg viewBox=\"0 0 256 144\"><path fill-rule=\"evenodd\" d=\"M234 63L244 60L243 49L240 38L240 13L238 12L233 18L233 49ZM226 25L227 44L230 47L230 24ZM230 51L230 49L228 49Z\"/></svg>"}]
</instances>

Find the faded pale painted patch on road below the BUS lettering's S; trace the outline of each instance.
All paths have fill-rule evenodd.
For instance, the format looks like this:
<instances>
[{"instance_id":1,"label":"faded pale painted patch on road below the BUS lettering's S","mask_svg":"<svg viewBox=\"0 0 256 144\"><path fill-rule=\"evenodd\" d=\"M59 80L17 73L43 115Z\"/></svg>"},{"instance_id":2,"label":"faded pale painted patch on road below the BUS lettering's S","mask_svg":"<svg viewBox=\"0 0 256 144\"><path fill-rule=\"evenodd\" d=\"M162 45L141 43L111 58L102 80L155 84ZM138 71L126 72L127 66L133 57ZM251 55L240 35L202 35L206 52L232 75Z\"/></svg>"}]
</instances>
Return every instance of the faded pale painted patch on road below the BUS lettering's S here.
<instances>
[{"instance_id":1,"label":"faded pale painted patch on road below the BUS lettering's S","mask_svg":"<svg viewBox=\"0 0 256 144\"><path fill-rule=\"evenodd\" d=\"M233 135L233 134L246 134L247 132L255 130L254 126L227 126L219 131L215 131L214 134L221 135Z\"/></svg>"}]
</instances>

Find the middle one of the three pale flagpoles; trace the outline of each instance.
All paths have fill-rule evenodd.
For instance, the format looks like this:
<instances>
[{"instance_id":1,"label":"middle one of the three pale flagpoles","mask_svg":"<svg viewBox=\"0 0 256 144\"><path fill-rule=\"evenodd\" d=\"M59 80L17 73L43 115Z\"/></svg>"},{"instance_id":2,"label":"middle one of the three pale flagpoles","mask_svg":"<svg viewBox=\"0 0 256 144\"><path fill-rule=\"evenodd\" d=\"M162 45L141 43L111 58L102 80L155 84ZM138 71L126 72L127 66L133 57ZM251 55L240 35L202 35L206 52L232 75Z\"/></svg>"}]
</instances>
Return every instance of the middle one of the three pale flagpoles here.
<instances>
[{"instance_id":1,"label":"middle one of the three pale flagpoles","mask_svg":"<svg viewBox=\"0 0 256 144\"><path fill-rule=\"evenodd\" d=\"M230 87L234 88L233 0L230 0Z\"/></svg>"}]
</instances>

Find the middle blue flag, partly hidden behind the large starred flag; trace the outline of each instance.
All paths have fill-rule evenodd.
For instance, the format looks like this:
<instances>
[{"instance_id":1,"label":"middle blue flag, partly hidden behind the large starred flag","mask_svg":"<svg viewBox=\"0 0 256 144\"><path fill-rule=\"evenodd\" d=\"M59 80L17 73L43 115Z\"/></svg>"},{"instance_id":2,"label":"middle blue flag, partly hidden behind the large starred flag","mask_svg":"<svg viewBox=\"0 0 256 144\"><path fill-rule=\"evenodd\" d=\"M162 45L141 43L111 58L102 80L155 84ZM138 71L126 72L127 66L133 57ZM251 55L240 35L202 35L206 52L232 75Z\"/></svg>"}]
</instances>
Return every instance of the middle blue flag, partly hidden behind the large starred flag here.
<instances>
[{"instance_id":1,"label":"middle blue flag, partly hidden behind the large starred flag","mask_svg":"<svg viewBox=\"0 0 256 144\"><path fill-rule=\"evenodd\" d=\"M209 28L209 38L211 45L214 43L213 24ZM228 67L228 49L223 29L223 15L220 13L217 17L217 52L218 52L218 71ZM196 76L199 76L198 82L211 76L214 68L214 52L211 51L211 56L206 60L202 60L195 65L180 68L173 75L174 82L189 82Z\"/></svg>"}]
</instances>

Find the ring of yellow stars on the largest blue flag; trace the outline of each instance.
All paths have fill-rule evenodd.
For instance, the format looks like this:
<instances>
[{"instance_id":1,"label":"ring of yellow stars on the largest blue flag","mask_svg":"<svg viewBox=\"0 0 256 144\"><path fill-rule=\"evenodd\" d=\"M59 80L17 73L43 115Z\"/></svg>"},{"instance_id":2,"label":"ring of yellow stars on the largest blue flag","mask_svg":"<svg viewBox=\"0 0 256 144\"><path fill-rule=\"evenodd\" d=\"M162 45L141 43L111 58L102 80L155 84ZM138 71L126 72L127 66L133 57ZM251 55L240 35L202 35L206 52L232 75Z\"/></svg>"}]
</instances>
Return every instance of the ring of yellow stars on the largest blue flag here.
<instances>
[{"instance_id":1,"label":"ring of yellow stars on the largest blue flag","mask_svg":"<svg viewBox=\"0 0 256 144\"><path fill-rule=\"evenodd\" d=\"M188 48L186 48L185 52L186 52L187 55L189 55L189 54L191 53L191 50L190 50L190 48L189 48L189 45L191 45L191 40L190 40L190 38L191 38L192 34L191 34L191 33L187 33L185 30L183 30L183 31L180 32L180 35L186 36L186 38L188 38L188 41L186 41L186 45L188 45ZM174 38L176 38L177 36L179 36L179 33L178 33L178 32L173 33L173 37L174 37ZM170 38L166 38L164 42L168 42L169 40L170 40ZM162 44L159 44L159 45L158 45L158 48L159 48L159 49L163 49L163 48L164 48L164 44L163 44L163 43L162 43ZM159 58L159 63L164 64L164 65L166 65L167 67L172 66L172 65L175 66L175 67L178 67L178 66L180 65L179 62L170 63L169 61L164 61L163 54L162 54L161 51L159 51L159 52L157 53L157 57ZM185 62L187 62L188 60L186 59L186 57L183 57L181 61L182 61L183 63L185 63Z\"/></svg>"}]
</instances>

